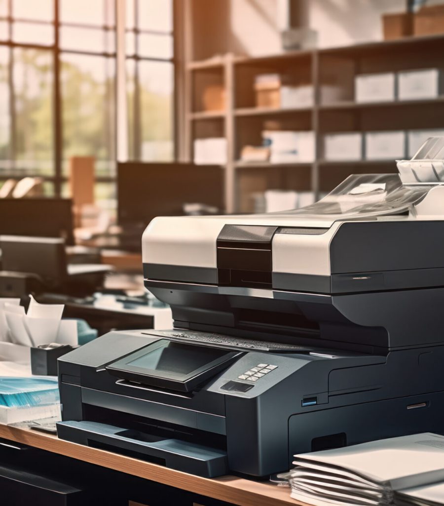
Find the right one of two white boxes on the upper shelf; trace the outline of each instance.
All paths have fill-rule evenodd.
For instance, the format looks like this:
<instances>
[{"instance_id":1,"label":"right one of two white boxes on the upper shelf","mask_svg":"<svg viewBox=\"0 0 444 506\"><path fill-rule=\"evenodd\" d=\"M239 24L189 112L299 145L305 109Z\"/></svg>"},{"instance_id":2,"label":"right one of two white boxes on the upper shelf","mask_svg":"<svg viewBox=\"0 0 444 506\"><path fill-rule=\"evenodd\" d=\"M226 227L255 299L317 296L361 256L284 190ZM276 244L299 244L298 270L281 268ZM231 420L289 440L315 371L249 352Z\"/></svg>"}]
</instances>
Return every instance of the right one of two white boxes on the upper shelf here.
<instances>
[{"instance_id":1,"label":"right one of two white boxes on the upper shelf","mask_svg":"<svg viewBox=\"0 0 444 506\"><path fill-rule=\"evenodd\" d=\"M440 75L441 72L437 68L398 72L398 100L438 97Z\"/></svg>"}]
</instances>

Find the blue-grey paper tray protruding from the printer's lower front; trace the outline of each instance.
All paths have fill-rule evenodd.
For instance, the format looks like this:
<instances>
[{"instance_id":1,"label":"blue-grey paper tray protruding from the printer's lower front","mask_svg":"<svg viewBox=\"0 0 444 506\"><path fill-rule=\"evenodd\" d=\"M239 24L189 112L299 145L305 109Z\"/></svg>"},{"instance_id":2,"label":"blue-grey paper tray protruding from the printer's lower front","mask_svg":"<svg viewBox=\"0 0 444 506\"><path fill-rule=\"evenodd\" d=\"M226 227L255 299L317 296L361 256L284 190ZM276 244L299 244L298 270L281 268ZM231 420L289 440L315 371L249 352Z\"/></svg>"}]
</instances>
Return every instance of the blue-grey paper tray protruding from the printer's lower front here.
<instances>
[{"instance_id":1,"label":"blue-grey paper tray protruding from the printer's lower front","mask_svg":"<svg viewBox=\"0 0 444 506\"><path fill-rule=\"evenodd\" d=\"M73 443L123 453L205 478L228 473L225 451L179 439L150 436L95 421L61 421L57 435Z\"/></svg>"}]
</instances>

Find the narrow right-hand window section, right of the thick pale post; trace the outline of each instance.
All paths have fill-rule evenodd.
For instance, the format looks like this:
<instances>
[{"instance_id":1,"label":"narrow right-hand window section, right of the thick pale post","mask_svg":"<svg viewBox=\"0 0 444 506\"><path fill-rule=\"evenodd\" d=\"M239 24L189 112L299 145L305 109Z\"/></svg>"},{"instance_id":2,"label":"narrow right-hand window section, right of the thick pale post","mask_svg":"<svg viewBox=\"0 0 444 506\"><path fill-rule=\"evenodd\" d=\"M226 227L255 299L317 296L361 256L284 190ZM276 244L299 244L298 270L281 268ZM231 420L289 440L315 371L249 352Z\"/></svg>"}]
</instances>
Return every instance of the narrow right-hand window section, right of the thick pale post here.
<instances>
[{"instance_id":1,"label":"narrow right-hand window section, right of the thick pale post","mask_svg":"<svg viewBox=\"0 0 444 506\"><path fill-rule=\"evenodd\" d=\"M171 161L172 0L127 0L125 23L129 158Z\"/></svg>"}]
</instances>

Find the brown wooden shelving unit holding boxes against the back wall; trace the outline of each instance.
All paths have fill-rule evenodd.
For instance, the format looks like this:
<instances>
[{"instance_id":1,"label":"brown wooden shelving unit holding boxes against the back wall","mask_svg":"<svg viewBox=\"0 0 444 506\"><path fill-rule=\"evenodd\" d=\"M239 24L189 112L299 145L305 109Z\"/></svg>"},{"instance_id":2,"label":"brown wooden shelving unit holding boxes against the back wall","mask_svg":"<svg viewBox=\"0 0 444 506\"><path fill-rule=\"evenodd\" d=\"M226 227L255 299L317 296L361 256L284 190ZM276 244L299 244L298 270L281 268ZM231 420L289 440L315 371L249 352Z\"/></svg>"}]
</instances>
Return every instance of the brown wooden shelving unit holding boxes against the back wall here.
<instances>
[{"instance_id":1,"label":"brown wooden shelving unit holding boxes against the back wall","mask_svg":"<svg viewBox=\"0 0 444 506\"><path fill-rule=\"evenodd\" d=\"M353 173L396 172L394 160L325 160L323 137L329 133L420 130L444 128L444 95L431 100L357 103L354 76L442 68L444 35L408 37L395 41L351 47L289 52L248 58L226 55L186 66L190 97L186 101L189 145L193 159L196 138L227 139L226 208L228 212L251 212L252 195L266 189L330 191ZM254 77L279 73L289 82L309 82L314 87L312 107L255 107ZM225 90L225 109L205 111L199 96L205 86L219 83ZM327 99L325 89L334 85L340 96ZM282 130L314 131L316 159L313 163L244 162L244 145L260 145L262 130L278 125Z\"/></svg>"}]
</instances>

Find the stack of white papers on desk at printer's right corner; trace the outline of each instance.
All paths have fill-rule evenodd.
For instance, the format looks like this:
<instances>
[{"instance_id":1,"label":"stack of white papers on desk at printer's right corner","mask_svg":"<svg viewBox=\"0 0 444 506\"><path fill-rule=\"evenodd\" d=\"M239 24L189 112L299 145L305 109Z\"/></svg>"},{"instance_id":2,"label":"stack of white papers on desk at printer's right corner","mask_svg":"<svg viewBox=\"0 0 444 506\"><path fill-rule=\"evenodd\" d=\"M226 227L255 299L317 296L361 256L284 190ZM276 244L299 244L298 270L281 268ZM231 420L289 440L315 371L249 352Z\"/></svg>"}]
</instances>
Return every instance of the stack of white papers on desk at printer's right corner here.
<instances>
[{"instance_id":1,"label":"stack of white papers on desk at printer's right corner","mask_svg":"<svg viewBox=\"0 0 444 506\"><path fill-rule=\"evenodd\" d=\"M444 481L444 436L423 433L304 453L293 463L294 499L316 506L389 504L396 491Z\"/></svg>"}]
</instances>

